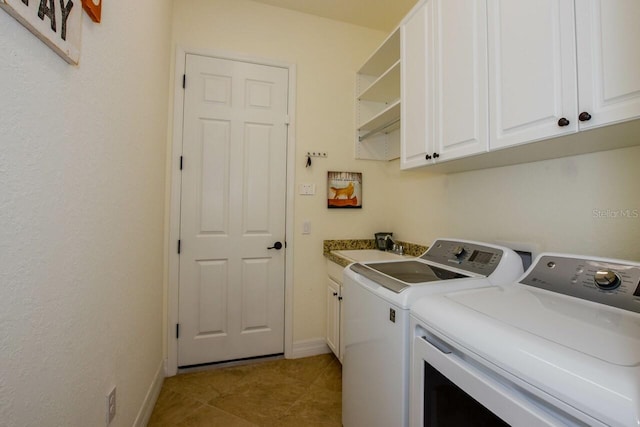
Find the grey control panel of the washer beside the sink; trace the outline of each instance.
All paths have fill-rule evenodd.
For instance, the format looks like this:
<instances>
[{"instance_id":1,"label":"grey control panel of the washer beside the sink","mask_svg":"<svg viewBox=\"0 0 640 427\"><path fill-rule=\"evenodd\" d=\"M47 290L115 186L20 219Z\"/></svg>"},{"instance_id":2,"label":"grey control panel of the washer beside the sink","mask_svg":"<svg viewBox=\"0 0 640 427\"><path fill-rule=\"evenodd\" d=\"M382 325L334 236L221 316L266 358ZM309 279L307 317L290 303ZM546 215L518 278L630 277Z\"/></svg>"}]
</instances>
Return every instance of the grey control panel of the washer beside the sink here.
<instances>
[{"instance_id":1,"label":"grey control panel of the washer beside the sink","mask_svg":"<svg viewBox=\"0 0 640 427\"><path fill-rule=\"evenodd\" d=\"M455 240L436 240L420 258L489 276L502 259L502 250Z\"/></svg>"}]
</instances>

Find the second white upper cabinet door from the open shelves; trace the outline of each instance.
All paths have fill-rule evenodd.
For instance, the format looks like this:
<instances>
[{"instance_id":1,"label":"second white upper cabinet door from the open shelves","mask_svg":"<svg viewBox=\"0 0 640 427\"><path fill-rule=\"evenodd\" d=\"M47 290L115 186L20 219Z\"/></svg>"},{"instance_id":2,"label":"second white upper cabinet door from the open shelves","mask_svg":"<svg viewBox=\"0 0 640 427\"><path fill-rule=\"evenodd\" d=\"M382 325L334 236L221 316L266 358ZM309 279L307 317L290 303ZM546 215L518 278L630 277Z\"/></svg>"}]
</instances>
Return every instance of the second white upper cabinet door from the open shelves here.
<instances>
[{"instance_id":1,"label":"second white upper cabinet door from the open shelves","mask_svg":"<svg viewBox=\"0 0 640 427\"><path fill-rule=\"evenodd\" d=\"M488 149L486 5L438 0L435 6L437 160Z\"/></svg>"}]
</instances>

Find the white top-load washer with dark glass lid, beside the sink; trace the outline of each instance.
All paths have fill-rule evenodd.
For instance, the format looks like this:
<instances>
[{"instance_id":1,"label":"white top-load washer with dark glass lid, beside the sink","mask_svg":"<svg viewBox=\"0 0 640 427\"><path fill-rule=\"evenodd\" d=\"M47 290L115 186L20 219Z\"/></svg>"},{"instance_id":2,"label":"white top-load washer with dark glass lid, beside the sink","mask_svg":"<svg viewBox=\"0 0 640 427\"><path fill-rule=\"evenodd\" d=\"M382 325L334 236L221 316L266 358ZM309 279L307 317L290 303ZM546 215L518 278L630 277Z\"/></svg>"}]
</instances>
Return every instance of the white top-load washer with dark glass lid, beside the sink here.
<instances>
[{"instance_id":1,"label":"white top-load washer with dark glass lid, beside the sink","mask_svg":"<svg viewBox=\"0 0 640 427\"><path fill-rule=\"evenodd\" d=\"M514 251L438 239L420 257L355 263L343 273L344 427L403 427L409 420L409 309L417 299L513 282Z\"/></svg>"}]
</instances>

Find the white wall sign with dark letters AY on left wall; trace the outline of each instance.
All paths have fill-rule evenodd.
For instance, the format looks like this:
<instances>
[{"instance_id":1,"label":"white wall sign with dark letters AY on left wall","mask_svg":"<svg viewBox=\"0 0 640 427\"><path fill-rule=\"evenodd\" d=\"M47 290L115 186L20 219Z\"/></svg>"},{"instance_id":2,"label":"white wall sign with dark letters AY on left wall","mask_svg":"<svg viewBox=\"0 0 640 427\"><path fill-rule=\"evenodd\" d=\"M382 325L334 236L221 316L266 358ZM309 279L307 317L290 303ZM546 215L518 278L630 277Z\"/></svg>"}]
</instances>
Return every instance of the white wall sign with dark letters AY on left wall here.
<instances>
[{"instance_id":1,"label":"white wall sign with dark letters AY on left wall","mask_svg":"<svg viewBox=\"0 0 640 427\"><path fill-rule=\"evenodd\" d=\"M0 0L13 16L70 64L80 59L81 0Z\"/></svg>"}]
</instances>

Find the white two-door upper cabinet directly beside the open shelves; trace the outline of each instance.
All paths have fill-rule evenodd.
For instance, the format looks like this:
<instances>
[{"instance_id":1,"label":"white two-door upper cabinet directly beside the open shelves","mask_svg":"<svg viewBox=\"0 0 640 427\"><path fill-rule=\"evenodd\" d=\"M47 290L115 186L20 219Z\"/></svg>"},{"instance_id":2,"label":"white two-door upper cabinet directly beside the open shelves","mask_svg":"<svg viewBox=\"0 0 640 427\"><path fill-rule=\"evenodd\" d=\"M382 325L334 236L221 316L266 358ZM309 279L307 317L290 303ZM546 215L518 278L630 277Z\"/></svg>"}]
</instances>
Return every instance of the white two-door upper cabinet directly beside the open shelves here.
<instances>
[{"instance_id":1,"label":"white two-door upper cabinet directly beside the open shelves","mask_svg":"<svg viewBox=\"0 0 640 427\"><path fill-rule=\"evenodd\" d=\"M487 151L486 13L484 1L429 0L403 21L402 169Z\"/></svg>"}]
</instances>

